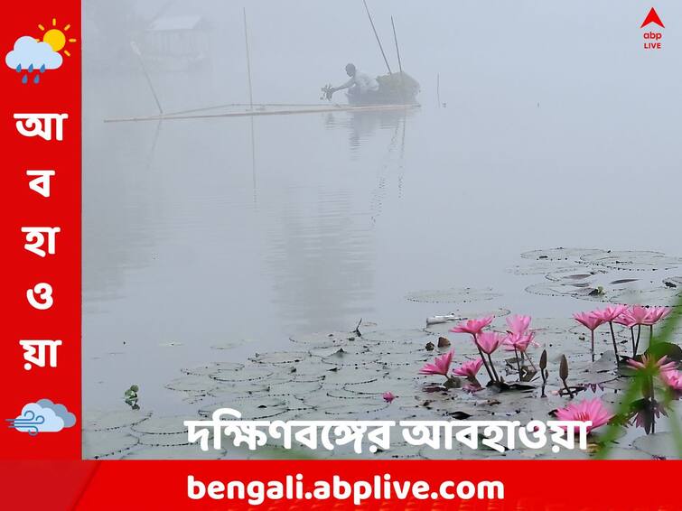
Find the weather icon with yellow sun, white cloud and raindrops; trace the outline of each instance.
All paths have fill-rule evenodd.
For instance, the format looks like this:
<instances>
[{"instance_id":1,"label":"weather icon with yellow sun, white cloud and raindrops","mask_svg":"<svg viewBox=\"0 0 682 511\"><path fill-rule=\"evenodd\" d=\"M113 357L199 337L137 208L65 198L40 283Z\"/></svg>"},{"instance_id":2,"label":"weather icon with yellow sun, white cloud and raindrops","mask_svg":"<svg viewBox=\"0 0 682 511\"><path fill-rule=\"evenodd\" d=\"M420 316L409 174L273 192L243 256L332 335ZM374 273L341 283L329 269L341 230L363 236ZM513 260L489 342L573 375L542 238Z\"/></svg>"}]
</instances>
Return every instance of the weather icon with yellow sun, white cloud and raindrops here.
<instances>
[{"instance_id":1,"label":"weather icon with yellow sun, white cloud and raindrops","mask_svg":"<svg viewBox=\"0 0 682 511\"><path fill-rule=\"evenodd\" d=\"M42 32L39 38L32 35L23 35L14 42L14 49L5 55L7 67L20 73L22 83L29 80L37 84L41 81L41 75L46 70L57 70L63 62L62 54L70 57L67 45L76 42L67 37L70 24L62 28L57 26L57 19L52 18L51 28L46 29L39 24L38 29Z\"/></svg>"}]
</instances>

